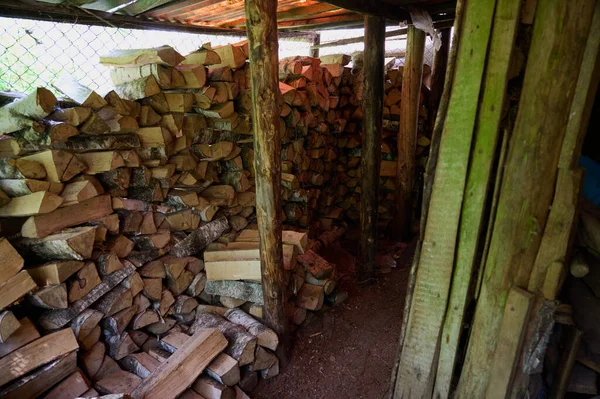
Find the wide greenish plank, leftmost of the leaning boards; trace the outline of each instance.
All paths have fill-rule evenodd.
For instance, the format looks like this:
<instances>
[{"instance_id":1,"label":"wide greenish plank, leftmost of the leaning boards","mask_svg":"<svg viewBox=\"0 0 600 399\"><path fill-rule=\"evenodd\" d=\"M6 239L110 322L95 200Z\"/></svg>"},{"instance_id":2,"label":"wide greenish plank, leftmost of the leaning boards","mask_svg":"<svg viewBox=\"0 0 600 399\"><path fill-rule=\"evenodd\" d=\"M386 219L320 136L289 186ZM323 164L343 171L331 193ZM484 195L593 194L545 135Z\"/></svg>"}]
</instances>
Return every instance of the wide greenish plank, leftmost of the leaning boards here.
<instances>
[{"instance_id":1,"label":"wide greenish plank, leftmost of the leaning boards","mask_svg":"<svg viewBox=\"0 0 600 399\"><path fill-rule=\"evenodd\" d=\"M495 0L464 6L448 114L396 380L395 398L433 392L438 342L454 264L460 210Z\"/></svg>"}]
</instances>

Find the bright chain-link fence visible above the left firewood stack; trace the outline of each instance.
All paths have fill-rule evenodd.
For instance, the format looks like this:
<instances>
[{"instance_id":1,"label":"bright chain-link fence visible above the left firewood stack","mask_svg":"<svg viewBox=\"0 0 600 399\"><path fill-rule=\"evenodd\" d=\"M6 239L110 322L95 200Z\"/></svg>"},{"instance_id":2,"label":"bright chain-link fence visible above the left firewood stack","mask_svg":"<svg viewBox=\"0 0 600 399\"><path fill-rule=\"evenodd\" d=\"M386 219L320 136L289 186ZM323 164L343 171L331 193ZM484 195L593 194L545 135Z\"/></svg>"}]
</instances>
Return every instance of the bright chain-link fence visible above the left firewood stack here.
<instances>
[{"instance_id":1,"label":"bright chain-link fence visible above the left firewood stack","mask_svg":"<svg viewBox=\"0 0 600 399\"><path fill-rule=\"evenodd\" d=\"M104 94L112 82L99 57L111 50L170 45L185 55L204 43L219 46L245 38L0 18L0 91L53 90L51 83L69 72ZM280 40L280 57L308 55L309 47L301 39Z\"/></svg>"}]
</instances>

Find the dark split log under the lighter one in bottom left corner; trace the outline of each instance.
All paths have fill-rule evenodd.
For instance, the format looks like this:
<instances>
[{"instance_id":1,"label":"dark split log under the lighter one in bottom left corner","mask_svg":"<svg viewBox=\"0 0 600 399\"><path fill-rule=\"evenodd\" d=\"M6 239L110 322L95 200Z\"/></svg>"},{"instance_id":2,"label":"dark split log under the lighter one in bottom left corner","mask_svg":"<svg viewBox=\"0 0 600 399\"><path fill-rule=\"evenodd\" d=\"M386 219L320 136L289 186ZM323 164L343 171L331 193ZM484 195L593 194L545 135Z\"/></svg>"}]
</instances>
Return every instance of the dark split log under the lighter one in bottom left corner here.
<instances>
[{"instance_id":1,"label":"dark split log under the lighter one in bottom left corner","mask_svg":"<svg viewBox=\"0 0 600 399\"><path fill-rule=\"evenodd\" d=\"M10 399L36 398L77 369L77 352L38 368L0 389L0 396Z\"/></svg>"}]
</instances>

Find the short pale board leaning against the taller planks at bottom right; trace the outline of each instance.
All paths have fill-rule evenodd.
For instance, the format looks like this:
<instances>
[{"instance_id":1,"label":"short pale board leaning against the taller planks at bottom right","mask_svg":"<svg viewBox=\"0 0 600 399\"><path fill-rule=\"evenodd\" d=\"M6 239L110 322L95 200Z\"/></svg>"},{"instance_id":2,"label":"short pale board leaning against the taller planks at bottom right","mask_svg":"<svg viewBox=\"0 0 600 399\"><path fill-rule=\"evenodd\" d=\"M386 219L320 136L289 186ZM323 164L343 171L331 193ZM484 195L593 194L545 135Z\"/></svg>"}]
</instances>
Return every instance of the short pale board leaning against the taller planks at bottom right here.
<instances>
[{"instance_id":1,"label":"short pale board leaning against the taller planks at bottom right","mask_svg":"<svg viewBox=\"0 0 600 399\"><path fill-rule=\"evenodd\" d=\"M508 293L486 398L505 399L509 396L532 301L533 294L520 288L514 287Z\"/></svg>"}]
</instances>

